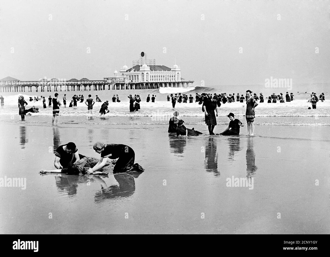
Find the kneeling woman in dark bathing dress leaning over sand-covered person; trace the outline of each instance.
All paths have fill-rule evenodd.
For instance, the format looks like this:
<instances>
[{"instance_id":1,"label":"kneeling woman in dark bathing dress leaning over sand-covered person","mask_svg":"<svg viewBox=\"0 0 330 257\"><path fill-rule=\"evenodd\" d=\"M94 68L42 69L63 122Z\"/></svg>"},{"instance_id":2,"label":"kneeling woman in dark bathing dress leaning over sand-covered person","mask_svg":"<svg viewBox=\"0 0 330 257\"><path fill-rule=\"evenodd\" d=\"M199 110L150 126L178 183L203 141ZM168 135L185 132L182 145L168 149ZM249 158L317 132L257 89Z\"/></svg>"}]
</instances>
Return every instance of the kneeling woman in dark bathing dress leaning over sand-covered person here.
<instances>
[{"instance_id":1,"label":"kneeling woman in dark bathing dress leaning over sand-covered person","mask_svg":"<svg viewBox=\"0 0 330 257\"><path fill-rule=\"evenodd\" d=\"M87 168L87 173L91 174L107 163L107 158L117 159L113 172L143 172L144 169L137 163L134 164L135 152L132 148L122 144L104 144L96 142L93 149L101 154L101 158L93 168Z\"/></svg>"}]
</instances>

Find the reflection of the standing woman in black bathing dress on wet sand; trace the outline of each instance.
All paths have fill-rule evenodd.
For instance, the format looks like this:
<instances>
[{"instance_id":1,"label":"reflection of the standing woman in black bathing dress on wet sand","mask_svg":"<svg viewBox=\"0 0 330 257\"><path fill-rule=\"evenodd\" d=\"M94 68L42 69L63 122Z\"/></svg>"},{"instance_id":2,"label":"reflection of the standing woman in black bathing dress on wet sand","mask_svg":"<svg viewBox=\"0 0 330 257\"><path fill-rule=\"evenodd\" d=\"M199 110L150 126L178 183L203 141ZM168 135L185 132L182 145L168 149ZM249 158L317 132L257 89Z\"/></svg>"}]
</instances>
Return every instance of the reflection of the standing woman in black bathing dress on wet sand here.
<instances>
[{"instance_id":1,"label":"reflection of the standing woman in black bathing dress on wet sand","mask_svg":"<svg viewBox=\"0 0 330 257\"><path fill-rule=\"evenodd\" d=\"M213 172L215 176L220 176L218 171L218 156L216 153L216 138L209 137L205 145L205 169L207 172Z\"/></svg>"}]
</instances>

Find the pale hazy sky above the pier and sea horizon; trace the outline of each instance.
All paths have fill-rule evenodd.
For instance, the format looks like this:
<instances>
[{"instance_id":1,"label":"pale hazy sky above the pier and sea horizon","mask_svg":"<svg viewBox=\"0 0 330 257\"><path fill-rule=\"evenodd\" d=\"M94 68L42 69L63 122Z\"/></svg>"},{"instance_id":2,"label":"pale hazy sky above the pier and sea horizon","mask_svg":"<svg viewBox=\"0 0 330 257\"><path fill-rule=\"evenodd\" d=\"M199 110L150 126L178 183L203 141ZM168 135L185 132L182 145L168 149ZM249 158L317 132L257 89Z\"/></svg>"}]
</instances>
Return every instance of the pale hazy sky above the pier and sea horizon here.
<instances>
[{"instance_id":1,"label":"pale hazy sky above the pier and sea horizon","mask_svg":"<svg viewBox=\"0 0 330 257\"><path fill-rule=\"evenodd\" d=\"M329 1L0 1L0 78L103 79L143 51L194 86L330 82ZM89 49L89 50L88 50Z\"/></svg>"}]
</instances>

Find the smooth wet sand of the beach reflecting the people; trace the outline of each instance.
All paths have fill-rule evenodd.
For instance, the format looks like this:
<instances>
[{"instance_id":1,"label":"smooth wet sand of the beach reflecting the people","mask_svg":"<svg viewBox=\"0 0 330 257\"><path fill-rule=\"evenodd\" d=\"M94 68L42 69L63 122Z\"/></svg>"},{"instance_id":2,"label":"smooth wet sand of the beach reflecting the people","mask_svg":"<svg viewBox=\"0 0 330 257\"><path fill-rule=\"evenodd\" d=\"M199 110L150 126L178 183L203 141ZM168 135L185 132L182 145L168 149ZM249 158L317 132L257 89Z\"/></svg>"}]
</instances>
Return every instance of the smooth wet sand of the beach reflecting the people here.
<instances>
[{"instance_id":1,"label":"smooth wet sand of the beach reflecting the people","mask_svg":"<svg viewBox=\"0 0 330 257\"><path fill-rule=\"evenodd\" d=\"M253 138L187 139L169 135L163 124L2 122L0 128L0 178L27 183L25 190L0 187L2 234L330 233L328 126L263 125ZM39 174L53 168L53 150L70 141L95 157L96 141L126 144L145 172ZM253 178L253 190L227 187L232 176Z\"/></svg>"}]
</instances>

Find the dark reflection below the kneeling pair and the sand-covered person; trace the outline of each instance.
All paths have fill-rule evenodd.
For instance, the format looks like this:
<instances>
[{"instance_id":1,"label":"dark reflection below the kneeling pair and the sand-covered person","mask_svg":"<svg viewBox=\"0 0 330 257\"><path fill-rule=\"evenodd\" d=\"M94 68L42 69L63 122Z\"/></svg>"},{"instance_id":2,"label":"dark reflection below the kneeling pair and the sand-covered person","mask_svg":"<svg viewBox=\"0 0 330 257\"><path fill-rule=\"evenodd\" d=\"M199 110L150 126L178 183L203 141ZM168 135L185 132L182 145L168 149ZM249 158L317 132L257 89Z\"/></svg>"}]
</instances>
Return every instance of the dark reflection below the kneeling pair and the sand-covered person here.
<instances>
[{"instance_id":1,"label":"dark reflection below the kneeling pair and the sand-covered person","mask_svg":"<svg viewBox=\"0 0 330 257\"><path fill-rule=\"evenodd\" d=\"M134 178L138 178L141 173L118 173L112 175L119 185L107 186L105 181L109 176L98 175L67 175L56 174L56 187L59 192L65 192L69 197L74 197L77 194L79 184L97 183L100 184L100 190L94 194L95 202L102 202L106 199L112 199L115 197L128 197L135 192ZM45 174L42 174L45 176ZM52 174L47 174L52 176Z\"/></svg>"}]
</instances>

